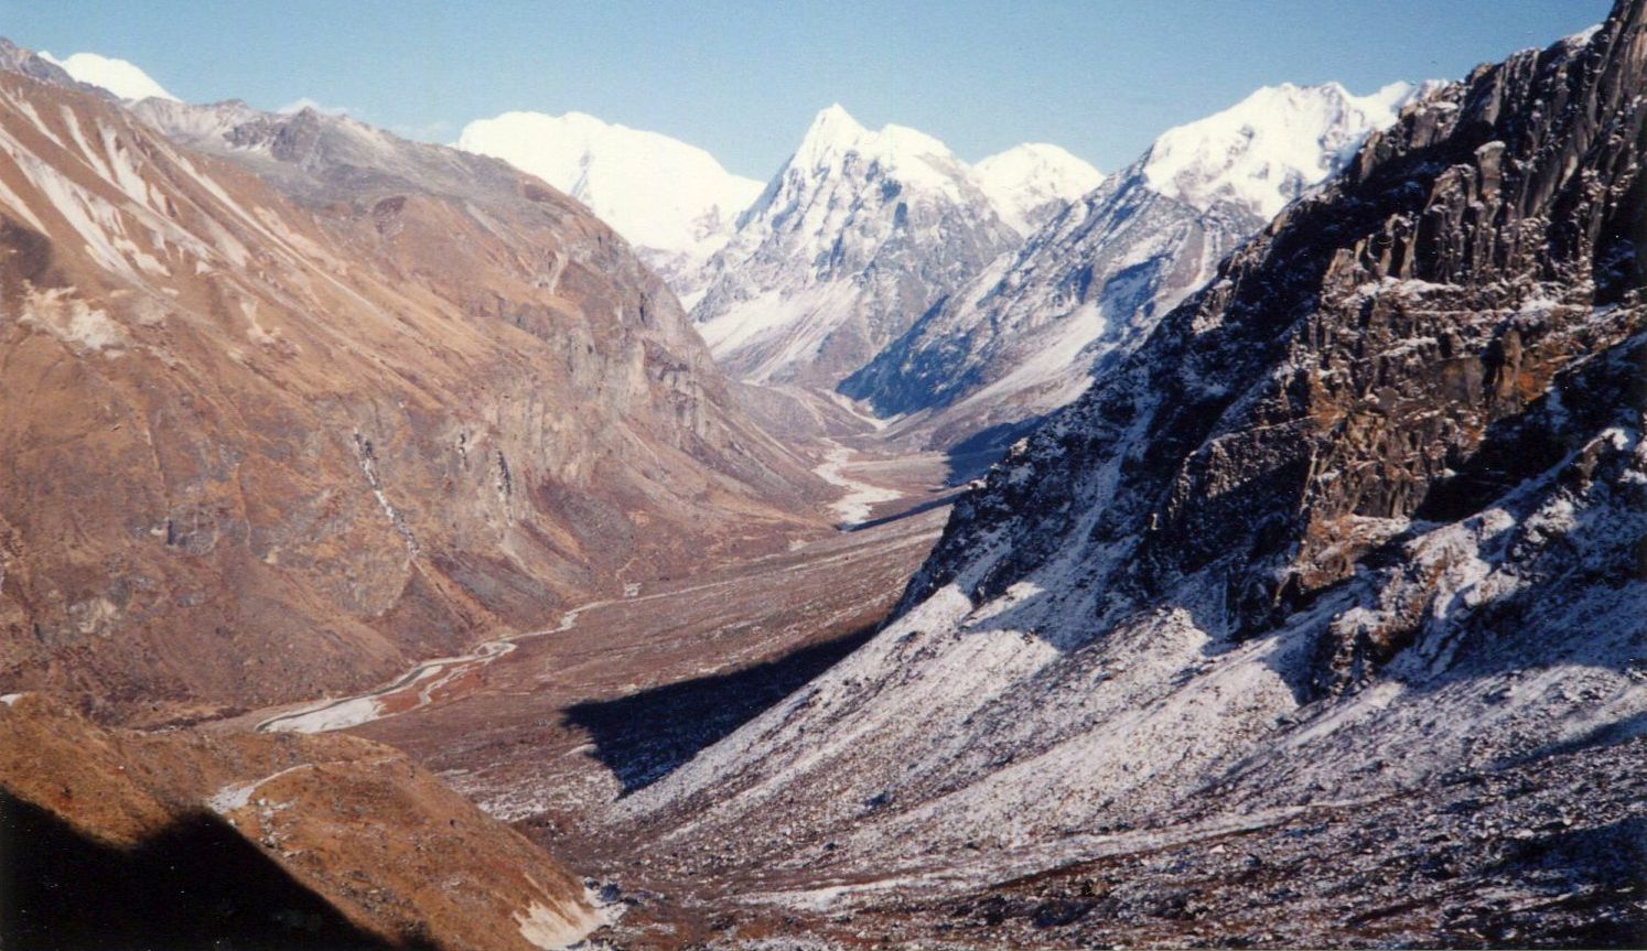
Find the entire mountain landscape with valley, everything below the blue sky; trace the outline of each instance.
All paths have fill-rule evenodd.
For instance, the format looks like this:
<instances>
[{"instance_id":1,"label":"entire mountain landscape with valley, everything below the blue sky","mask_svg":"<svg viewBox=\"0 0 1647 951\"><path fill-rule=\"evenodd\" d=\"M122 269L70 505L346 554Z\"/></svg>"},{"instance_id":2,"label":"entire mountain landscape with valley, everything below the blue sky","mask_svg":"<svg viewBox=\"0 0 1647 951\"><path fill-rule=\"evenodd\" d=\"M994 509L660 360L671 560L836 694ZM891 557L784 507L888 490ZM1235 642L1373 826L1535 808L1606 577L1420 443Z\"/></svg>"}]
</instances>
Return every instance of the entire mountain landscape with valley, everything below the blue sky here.
<instances>
[{"instance_id":1,"label":"entire mountain landscape with valley, everything below the blue sky","mask_svg":"<svg viewBox=\"0 0 1647 951\"><path fill-rule=\"evenodd\" d=\"M1644 90L761 186L0 39L0 944L1639 944Z\"/></svg>"}]
</instances>

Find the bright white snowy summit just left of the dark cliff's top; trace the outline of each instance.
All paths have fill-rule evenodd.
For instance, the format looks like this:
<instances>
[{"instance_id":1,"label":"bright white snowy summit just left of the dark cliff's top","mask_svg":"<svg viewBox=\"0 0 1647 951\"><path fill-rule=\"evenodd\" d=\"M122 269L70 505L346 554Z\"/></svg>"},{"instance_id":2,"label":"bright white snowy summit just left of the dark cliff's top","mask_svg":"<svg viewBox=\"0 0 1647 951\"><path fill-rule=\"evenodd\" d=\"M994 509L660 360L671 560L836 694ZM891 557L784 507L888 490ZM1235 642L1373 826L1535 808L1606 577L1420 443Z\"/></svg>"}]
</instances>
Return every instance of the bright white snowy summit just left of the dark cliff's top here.
<instances>
[{"instance_id":1,"label":"bright white snowy summit just left of the dark cliff's top","mask_svg":"<svg viewBox=\"0 0 1647 951\"><path fill-rule=\"evenodd\" d=\"M1196 207L1237 201L1268 219L1337 171L1369 132L1392 125L1405 104L1430 89L1392 82L1354 95L1337 82L1265 86L1156 138L1145 178Z\"/></svg>"}]
</instances>

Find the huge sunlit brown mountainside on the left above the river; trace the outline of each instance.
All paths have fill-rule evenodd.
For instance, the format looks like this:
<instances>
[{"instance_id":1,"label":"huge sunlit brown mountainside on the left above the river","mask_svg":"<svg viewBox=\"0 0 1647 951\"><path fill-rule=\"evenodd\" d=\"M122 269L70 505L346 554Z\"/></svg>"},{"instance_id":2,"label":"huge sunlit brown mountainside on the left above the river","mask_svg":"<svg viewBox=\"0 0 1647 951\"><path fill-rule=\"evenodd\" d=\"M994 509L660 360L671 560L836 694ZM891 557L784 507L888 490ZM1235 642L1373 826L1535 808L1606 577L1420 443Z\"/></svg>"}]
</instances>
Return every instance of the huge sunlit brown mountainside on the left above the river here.
<instances>
[{"instance_id":1,"label":"huge sunlit brown mountainside on the left above the river","mask_svg":"<svg viewBox=\"0 0 1647 951\"><path fill-rule=\"evenodd\" d=\"M346 118L138 109L194 148L0 72L0 686L310 698L817 525L576 202Z\"/></svg>"}]
</instances>

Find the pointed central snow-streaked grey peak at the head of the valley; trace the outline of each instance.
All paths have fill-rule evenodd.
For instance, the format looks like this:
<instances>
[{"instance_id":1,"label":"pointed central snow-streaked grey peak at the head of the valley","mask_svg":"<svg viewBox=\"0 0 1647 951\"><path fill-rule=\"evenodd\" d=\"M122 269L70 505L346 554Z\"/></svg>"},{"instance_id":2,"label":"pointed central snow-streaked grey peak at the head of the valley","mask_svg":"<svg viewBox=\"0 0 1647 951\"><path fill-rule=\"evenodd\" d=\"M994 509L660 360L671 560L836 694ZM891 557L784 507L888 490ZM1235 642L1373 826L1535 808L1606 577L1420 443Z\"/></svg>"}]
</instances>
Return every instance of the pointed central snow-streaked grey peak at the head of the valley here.
<instances>
[{"instance_id":1,"label":"pointed central snow-streaked grey peak at the head of the valley","mask_svg":"<svg viewBox=\"0 0 1647 951\"><path fill-rule=\"evenodd\" d=\"M1018 240L942 141L832 105L710 262L692 316L749 382L833 385Z\"/></svg>"}]
</instances>

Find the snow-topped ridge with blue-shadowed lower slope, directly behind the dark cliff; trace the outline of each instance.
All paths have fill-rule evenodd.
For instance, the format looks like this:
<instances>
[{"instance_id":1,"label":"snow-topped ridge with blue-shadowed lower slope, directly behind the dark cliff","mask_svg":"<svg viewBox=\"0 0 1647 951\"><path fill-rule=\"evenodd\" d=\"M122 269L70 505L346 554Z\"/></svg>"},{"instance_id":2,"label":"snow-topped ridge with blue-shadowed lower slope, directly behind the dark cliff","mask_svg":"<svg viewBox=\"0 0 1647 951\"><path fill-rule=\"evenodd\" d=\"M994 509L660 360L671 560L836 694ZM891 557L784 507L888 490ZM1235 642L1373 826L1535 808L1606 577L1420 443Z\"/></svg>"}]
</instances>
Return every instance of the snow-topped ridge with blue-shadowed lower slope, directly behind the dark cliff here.
<instances>
[{"instance_id":1,"label":"snow-topped ridge with blue-shadowed lower slope, directly behind the dark cliff","mask_svg":"<svg viewBox=\"0 0 1647 951\"><path fill-rule=\"evenodd\" d=\"M1173 128L847 378L894 434L945 448L1079 397L1286 202L1428 87L1280 86Z\"/></svg>"}]
</instances>

